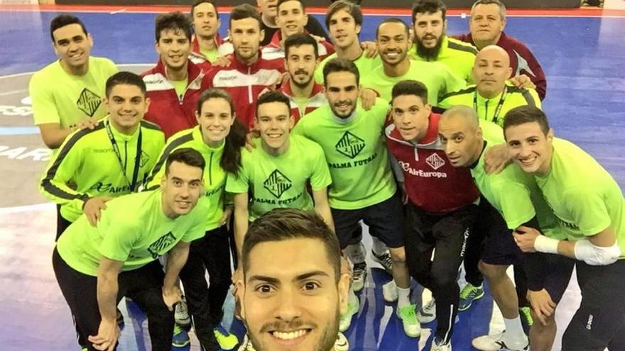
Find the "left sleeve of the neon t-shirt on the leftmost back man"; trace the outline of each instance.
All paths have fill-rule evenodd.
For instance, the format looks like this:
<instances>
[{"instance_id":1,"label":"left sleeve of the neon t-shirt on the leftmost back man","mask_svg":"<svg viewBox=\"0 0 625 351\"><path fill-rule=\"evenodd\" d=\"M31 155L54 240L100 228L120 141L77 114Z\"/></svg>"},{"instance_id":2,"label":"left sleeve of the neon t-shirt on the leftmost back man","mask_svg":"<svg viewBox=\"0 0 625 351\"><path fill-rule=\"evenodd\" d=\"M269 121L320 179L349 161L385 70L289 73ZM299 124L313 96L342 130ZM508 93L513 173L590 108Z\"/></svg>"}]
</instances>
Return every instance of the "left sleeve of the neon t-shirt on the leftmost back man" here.
<instances>
[{"instance_id":1,"label":"left sleeve of the neon t-shirt on the leftmost back man","mask_svg":"<svg viewBox=\"0 0 625 351\"><path fill-rule=\"evenodd\" d=\"M54 87L45 82L40 72L33 75L28 84L28 94L33 104L33 118L35 125L45 123L60 123L61 119L52 95Z\"/></svg>"}]
</instances>

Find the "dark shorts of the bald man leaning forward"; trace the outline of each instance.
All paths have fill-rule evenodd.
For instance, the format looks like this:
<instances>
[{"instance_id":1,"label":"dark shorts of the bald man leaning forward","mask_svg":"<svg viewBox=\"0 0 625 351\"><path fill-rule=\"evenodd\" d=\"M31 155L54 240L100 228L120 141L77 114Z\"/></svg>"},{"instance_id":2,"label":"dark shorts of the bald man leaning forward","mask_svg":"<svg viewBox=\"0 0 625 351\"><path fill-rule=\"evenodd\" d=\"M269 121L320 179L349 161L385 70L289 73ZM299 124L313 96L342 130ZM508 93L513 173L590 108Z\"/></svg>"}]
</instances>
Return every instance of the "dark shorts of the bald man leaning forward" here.
<instances>
[{"instance_id":1,"label":"dark shorts of the bald man leaning forward","mask_svg":"<svg viewBox=\"0 0 625 351\"><path fill-rule=\"evenodd\" d=\"M521 249L518 248L506 221L488 201L482 197L474 231L484 233L482 262L496 265L521 263Z\"/></svg>"}]
</instances>

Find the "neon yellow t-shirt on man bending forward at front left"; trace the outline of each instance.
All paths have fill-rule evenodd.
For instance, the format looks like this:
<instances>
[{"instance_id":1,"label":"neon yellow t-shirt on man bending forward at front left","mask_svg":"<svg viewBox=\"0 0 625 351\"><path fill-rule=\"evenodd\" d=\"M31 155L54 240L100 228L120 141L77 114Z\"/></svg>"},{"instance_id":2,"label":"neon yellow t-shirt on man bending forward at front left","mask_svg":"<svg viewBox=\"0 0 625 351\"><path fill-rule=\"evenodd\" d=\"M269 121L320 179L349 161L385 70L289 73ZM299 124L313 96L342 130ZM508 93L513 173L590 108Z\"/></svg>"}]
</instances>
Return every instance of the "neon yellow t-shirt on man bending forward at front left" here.
<instances>
[{"instance_id":1,"label":"neon yellow t-shirt on man bending forward at front left","mask_svg":"<svg viewBox=\"0 0 625 351\"><path fill-rule=\"evenodd\" d=\"M143 191L107 202L97 227L83 214L60 236L60 257L78 272L97 277L102 257L123 261L121 272L126 272L165 255L180 240L202 238L208 200L200 197L189 213L171 219L163 213L162 194Z\"/></svg>"}]
</instances>

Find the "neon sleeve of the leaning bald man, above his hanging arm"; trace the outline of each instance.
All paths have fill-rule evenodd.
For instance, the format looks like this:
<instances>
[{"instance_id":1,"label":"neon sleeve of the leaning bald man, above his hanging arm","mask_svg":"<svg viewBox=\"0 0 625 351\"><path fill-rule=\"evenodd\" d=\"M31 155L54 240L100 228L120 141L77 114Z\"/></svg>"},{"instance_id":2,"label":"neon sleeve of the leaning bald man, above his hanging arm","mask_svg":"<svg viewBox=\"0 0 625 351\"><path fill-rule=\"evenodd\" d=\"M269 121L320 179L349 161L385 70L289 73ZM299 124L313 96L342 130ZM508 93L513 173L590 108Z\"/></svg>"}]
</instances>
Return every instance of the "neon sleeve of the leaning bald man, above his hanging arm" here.
<instances>
[{"instance_id":1,"label":"neon sleeve of the leaning bald man, above his hanging arm","mask_svg":"<svg viewBox=\"0 0 625 351\"><path fill-rule=\"evenodd\" d=\"M529 189L525 185L498 181L491 185L491 192L496 202L493 205L499 208L510 230L518 228L536 216Z\"/></svg>"}]
</instances>

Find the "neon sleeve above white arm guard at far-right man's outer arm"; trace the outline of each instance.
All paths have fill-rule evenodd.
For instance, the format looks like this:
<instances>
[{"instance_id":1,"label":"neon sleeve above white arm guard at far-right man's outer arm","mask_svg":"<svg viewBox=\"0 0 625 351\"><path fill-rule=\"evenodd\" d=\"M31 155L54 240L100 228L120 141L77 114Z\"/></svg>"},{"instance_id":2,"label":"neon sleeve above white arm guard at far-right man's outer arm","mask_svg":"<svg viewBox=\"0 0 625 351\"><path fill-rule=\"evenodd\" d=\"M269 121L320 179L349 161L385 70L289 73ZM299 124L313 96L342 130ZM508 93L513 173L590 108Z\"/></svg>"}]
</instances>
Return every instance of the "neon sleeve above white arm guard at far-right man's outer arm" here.
<instances>
[{"instance_id":1,"label":"neon sleeve above white arm guard at far-right man's outer arm","mask_svg":"<svg viewBox=\"0 0 625 351\"><path fill-rule=\"evenodd\" d=\"M612 225L605 202L594 189L569 188L562 199L582 234L592 236Z\"/></svg>"}]
</instances>

